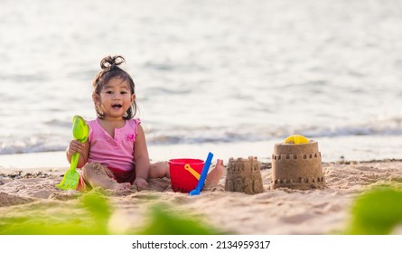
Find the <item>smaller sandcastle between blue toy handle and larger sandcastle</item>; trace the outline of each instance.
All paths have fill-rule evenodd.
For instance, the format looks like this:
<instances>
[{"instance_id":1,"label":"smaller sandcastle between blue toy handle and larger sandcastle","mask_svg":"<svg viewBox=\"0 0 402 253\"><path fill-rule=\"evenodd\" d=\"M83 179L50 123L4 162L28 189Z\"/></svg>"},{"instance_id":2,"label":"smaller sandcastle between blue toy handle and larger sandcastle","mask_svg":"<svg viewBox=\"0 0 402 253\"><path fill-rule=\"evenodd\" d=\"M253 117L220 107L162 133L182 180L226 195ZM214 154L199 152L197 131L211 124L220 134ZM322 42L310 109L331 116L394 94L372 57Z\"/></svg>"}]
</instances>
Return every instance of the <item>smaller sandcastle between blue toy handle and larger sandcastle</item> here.
<instances>
[{"instance_id":1,"label":"smaller sandcastle between blue toy handle and larger sandcastle","mask_svg":"<svg viewBox=\"0 0 402 253\"><path fill-rule=\"evenodd\" d=\"M248 159L238 158L236 160L233 157L229 158L225 191L247 194L264 192L257 157L248 156Z\"/></svg>"}]
</instances>

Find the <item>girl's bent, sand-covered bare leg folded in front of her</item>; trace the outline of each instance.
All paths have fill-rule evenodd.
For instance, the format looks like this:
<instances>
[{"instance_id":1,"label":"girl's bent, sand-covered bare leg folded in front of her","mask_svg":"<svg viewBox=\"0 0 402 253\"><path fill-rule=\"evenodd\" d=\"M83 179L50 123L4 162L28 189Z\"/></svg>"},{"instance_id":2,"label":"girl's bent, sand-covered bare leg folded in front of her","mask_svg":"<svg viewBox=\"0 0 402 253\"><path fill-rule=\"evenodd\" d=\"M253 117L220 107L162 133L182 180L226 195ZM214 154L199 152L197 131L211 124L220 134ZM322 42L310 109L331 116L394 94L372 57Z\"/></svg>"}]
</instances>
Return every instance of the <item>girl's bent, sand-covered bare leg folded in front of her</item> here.
<instances>
[{"instance_id":1,"label":"girl's bent, sand-covered bare leg folded in front of her","mask_svg":"<svg viewBox=\"0 0 402 253\"><path fill-rule=\"evenodd\" d=\"M83 176L92 187L102 187L104 189L125 190L130 187L130 183L117 183L111 178L112 173L108 167L99 163L88 163L82 167Z\"/></svg>"}]
</instances>

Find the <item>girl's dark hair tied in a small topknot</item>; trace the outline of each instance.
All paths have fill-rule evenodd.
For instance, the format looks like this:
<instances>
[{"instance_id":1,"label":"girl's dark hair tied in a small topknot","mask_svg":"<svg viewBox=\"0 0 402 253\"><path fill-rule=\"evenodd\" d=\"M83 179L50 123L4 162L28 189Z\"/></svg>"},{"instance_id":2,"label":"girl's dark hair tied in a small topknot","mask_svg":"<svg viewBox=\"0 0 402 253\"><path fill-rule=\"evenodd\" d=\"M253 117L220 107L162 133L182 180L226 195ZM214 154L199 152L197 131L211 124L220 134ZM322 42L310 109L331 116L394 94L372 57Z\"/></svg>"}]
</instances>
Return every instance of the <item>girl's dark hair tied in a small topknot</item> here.
<instances>
[{"instance_id":1,"label":"girl's dark hair tied in a small topknot","mask_svg":"<svg viewBox=\"0 0 402 253\"><path fill-rule=\"evenodd\" d=\"M131 94L136 94L136 85L131 76L125 71L120 69L118 65L126 62L126 60L121 55L116 56L107 56L100 61L100 70L98 75L92 82L93 85L93 93L99 95L100 90L108 83L109 80L117 78L123 81L128 81L130 85ZM95 107L98 117L104 117L103 113L99 111L97 107ZM125 119L133 118L136 115L136 100L134 100L133 104L130 108L127 109L126 114L123 116Z\"/></svg>"}]
</instances>

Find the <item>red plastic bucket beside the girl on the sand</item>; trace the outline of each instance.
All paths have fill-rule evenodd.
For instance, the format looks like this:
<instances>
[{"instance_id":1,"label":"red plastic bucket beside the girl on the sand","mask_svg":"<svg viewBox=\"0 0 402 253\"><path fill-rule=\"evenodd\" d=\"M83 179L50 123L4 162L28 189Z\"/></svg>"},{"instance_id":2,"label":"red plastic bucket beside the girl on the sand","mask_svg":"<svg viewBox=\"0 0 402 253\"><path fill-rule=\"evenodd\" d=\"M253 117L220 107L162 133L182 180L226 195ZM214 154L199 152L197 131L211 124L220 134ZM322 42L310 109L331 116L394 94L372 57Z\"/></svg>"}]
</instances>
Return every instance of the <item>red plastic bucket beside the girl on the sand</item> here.
<instances>
[{"instance_id":1,"label":"red plastic bucket beside the girl on the sand","mask_svg":"<svg viewBox=\"0 0 402 253\"><path fill-rule=\"evenodd\" d=\"M187 171L184 166L190 164L192 169L201 174L204 161L192 158L178 158L169 160L171 184L174 192L191 192L195 189L198 179Z\"/></svg>"}]
</instances>

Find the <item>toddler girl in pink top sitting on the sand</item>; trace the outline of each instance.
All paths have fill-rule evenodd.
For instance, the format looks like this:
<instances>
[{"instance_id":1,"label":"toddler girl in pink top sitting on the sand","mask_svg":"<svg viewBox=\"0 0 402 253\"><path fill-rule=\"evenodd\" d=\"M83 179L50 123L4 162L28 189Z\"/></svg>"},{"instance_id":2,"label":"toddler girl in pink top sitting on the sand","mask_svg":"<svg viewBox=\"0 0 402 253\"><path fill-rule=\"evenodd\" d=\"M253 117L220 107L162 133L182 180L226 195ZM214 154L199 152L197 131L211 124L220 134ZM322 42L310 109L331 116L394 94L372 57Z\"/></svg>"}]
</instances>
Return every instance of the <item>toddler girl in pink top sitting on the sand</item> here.
<instances>
[{"instance_id":1,"label":"toddler girl in pink top sitting on the sand","mask_svg":"<svg viewBox=\"0 0 402 253\"><path fill-rule=\"evenodd\" d=\"M118 65L122 56L108 56L100 61L98 75L93 80L92 100L97 118L88 121L89 138L85 143L71 140L66 155L79 153L77 167L82 167L79 191L95 186L124 190L135 184L138 190L148 187L148 178L169 177L169 164L150 164L144 129L136 115L135 84L131 76ZM208 174L207 183L215 185L223 173L218 160Z\"/></svg>"}]
</instances>

